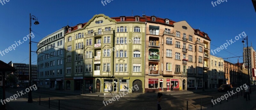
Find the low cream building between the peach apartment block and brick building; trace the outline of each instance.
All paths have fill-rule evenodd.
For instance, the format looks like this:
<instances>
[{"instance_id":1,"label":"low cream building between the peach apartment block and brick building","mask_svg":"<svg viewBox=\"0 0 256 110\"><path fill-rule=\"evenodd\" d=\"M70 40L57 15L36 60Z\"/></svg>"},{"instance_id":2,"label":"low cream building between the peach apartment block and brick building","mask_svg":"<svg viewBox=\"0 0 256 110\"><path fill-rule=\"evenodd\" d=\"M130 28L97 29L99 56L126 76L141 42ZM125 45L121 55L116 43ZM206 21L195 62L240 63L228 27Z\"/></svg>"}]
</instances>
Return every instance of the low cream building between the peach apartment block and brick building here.
<instances>
[{"instance_id":1,"label":"low cream building between the peach apartment block and brick building","mask_svg":"<svg viewBox=\"0 0 256 110\"><path fill-rule=\"evenodd\" d=\"M227 84L228 77L224 74L224 60L222 58L210 55L210 72L207 78L209 88L218 88L222 84ZM225 79L226 78L226 79Z\"/></svg>"}]
</instances>

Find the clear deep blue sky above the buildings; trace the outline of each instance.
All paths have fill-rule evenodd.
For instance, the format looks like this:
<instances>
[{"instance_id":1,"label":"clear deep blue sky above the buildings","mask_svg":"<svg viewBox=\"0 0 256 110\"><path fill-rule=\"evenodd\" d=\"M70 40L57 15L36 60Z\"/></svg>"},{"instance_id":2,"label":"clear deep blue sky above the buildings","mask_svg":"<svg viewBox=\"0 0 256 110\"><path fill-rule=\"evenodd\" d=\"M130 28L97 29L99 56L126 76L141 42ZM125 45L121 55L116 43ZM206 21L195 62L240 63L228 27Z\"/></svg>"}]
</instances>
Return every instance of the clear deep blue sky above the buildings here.
<instances>
[{"instance_id":1,"label":"clear deep blue sky above the buildings","mask_svg":"<svg viewBox=\"0 0 256 110\"><path fill-rule=\"evenodd\" d=\"M217 1L217 0L216 0ZM206 32L211 38L211 49L216 49L235 39L243 31L248 36L249 46L256 46L256 12L251 0L227 0L214 6L212 0L113 0L103 6L101 0L10 0L4 5L0 3L0 51L4 51L15 41L29 34L29 13L38 18L39 25L32 24L35 38L40 39L59 30L66 25L74 26L85 23L95 14L109 17L147 16L169 18L173 21L186 20L190 26ZM215 2L213 0L213 2ZM32 23L34 23L32 21ZM242 56L243 44L240 38L227 49L217 52L222 58ZM29 63L29 41L20 44L15 50L0 54L0 60L8 63ZM214 46L215 45L215 46ZM246 44L245 44L246 45ZM36 51L32 43L32 51ZM228 51L228 52L227 52ZM230 52L230 53L229 53ZM32 64L36 64L36 54L32 52ZM27 58L27 59L26 59ZM229 58L232 63L237 58ZM242 58L239 59L242 62Z\"/></svg>"}]
</instances>

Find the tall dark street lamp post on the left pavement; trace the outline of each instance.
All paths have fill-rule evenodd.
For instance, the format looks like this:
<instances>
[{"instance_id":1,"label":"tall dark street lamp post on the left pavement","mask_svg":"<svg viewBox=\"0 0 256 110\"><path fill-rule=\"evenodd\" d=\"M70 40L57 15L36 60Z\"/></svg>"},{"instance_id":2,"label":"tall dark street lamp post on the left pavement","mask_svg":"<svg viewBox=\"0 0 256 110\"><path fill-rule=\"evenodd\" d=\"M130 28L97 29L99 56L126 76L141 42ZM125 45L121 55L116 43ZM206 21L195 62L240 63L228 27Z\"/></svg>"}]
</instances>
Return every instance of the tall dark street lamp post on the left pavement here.
<instances>
[{"instance_id":1,"label":"tall dark street lamp post on the left pavement","mask_svg":"<svg viewBox=\"0 0 256 110\"><path fill-rule=\"evenodd\" d=\"M31 87L31 20L35 20L34 24L39 24L39 22L37 21L35 16L31 16L31 14L29 13L29 20L30 20L30 24L29 24L29 87ZM29 91L28 92L28 103L32 103L33 99L32 99L32 92Z\"/></svg>"}]
</instances>

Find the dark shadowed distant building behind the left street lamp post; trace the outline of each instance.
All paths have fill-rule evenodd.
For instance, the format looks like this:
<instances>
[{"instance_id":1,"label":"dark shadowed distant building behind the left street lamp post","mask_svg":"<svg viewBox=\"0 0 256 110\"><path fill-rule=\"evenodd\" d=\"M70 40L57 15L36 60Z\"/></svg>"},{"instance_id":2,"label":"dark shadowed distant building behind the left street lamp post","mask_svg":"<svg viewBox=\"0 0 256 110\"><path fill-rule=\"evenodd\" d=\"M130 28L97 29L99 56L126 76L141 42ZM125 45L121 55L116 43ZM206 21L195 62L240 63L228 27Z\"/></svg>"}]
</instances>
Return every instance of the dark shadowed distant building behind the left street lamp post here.
<instances>
[{"instance_id":1,"label":"dark shadowed distant building behind the left street lamp post","mask_svg":"<svg viewBox=\"0 0 256 110\"><path fill-rule=\"evenodd\" d=\"M12 63L12 67L16 69L12 74L17 79L17 85L29 86L29 64ZM31 81L37 83L37 65L31 65Z\"/></svg>"}]
</instances>

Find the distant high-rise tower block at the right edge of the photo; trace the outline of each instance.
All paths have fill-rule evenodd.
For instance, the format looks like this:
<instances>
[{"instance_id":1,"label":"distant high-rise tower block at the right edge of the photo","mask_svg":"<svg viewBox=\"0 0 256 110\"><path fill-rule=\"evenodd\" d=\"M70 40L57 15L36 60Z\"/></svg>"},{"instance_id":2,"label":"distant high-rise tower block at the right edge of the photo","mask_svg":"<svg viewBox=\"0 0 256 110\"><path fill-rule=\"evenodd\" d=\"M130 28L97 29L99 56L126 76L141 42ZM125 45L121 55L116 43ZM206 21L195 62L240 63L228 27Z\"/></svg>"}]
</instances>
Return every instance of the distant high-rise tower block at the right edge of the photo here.
<instances>
[{"instance_id":1,"label":"distant high-rise tower block at the right edge of the photo","mask_svg":"<svg viewBox=\"0 0 256 110\"><path fill-rule=\"evenodd\" d=\"M250 83L255 83L255 77L252 76L252 68L256 68L255 61L256 61L256 52L253 49L253 47L248 47L249 50L249 65L247 64L247 47L244 47L243 49L243 55L244 55L244 65L245 67L249 67L249 73L250 73ZM248 78L247 78L248 79ZM256 84L256 83L255 83Z\"/></svg>"}]
</instances>

